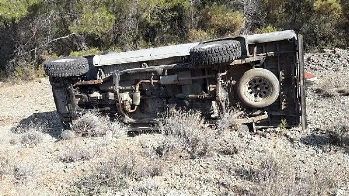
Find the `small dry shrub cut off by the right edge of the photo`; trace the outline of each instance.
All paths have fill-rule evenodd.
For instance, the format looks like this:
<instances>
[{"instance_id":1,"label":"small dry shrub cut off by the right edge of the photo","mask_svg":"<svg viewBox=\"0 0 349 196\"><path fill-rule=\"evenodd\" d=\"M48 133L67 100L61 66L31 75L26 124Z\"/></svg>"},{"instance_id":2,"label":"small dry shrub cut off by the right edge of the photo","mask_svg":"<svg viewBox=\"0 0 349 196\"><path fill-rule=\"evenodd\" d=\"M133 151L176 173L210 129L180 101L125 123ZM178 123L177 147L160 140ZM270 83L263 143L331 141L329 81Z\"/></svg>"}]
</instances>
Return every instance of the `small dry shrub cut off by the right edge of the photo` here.
<instances>
[{"instance_id":1,"label":"small dry shrub cut off by the right edge of the photo","mask_svg":"<svg viewBox=\"0 0 349 196\"><path fill-rule=\"evenodd\" d=\"M327 127L329 137L335 145L349 146L349 120L341 119Z\"/></svg>"}]
</instances>

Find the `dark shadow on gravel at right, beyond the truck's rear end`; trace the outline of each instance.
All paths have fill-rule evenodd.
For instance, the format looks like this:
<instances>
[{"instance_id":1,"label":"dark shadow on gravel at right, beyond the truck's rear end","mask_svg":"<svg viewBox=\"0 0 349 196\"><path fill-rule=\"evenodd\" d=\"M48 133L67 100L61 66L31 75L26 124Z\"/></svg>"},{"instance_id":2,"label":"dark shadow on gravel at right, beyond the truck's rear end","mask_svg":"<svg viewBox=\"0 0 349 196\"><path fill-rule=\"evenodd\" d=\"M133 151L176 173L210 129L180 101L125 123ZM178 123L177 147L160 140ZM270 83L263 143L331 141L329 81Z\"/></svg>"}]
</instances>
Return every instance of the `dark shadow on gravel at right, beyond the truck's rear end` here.
<instances>
[{"instance_id":1,"label":"dark shadow on gravel at right, beyond the truck's rear end","mask_svg":"<svg viewBox=\"0 0 349 196\"><path fill-rule=\"evenodd\" d=\"M308 135L300 139L300 142L317 147L320 149L327 149L327 150L335 150L335 151L344 151L345 153L349 153L349 147L345 145L339 145L336 143L336 141L333 141L330 137L327 135Z\"/></svg>"}]
</instances>

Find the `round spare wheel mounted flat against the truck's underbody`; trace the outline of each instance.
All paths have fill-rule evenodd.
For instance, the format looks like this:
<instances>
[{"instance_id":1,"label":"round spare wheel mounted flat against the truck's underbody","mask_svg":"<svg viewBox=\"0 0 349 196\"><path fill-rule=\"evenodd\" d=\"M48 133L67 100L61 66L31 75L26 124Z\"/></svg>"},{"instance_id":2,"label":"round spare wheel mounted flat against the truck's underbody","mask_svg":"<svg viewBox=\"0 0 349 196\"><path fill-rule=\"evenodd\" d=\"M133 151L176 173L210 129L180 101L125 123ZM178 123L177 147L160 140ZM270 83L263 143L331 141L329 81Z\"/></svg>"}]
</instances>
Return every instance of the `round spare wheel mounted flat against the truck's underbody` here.
<instances>
[{"instance_id":1,"label":"round spare wheel mounted flat against the truck's underbody","mask_svg":"<svg viewBox=\"0 0 349 196\"><path fill-rule=\"evenodd\" d=\"M252 108L272 105L279 97L278 78L269 70L250 69L240 78L237 93L242 103Z\"/></svg>"}]
</instances>

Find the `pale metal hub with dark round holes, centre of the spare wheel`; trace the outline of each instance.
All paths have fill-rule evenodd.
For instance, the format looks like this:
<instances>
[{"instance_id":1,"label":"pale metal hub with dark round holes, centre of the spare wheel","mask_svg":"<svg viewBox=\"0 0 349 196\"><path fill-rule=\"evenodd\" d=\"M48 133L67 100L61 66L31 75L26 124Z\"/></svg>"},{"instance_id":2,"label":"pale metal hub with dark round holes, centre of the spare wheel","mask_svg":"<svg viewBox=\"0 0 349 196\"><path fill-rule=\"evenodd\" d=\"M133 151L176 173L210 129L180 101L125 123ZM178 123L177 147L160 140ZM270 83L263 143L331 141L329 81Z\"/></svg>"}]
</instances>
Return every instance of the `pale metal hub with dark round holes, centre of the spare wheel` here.
<instances>
[{"instance_id":1,"label":"pale metal hub with dark round holes, centre of the spare wheel","mask_svg":"<svg viewBox=\"0 0 349 196\"><path fill-rule=\"evenodd\" d=\"M251 98L263 99L267 97L270 92L270 87L267 81L263 79L253 79L248 82L247 92Z\"/></svg>"}]
</instances>

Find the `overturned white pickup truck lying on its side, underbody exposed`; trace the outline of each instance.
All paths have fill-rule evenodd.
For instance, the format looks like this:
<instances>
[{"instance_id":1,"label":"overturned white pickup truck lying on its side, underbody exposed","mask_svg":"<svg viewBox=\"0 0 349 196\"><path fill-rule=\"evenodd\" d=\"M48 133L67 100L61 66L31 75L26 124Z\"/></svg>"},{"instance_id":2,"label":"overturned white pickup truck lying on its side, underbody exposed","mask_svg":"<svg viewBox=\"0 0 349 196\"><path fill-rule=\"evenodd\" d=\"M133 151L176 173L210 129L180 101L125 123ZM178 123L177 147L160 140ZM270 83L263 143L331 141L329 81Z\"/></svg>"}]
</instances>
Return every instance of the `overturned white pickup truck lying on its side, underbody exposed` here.
<instances>
[{"instance_id":1,"label":"overturned white pickup truck lying on its side, underbody exposed","mask_svg":"<svg viewBox=\"0 0 349 196\"><path fill-rule=\"evenodd\" d=\"M219 120L231 106L255 128L306 128L303 38L293 31L216 39L45 62L63 127L82 110L120 115L132 130L164 114L199 110Z\"/></svg>"}]
</instances>

